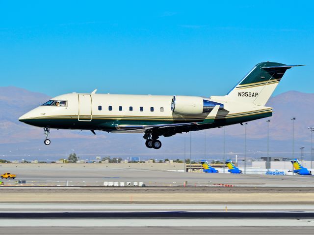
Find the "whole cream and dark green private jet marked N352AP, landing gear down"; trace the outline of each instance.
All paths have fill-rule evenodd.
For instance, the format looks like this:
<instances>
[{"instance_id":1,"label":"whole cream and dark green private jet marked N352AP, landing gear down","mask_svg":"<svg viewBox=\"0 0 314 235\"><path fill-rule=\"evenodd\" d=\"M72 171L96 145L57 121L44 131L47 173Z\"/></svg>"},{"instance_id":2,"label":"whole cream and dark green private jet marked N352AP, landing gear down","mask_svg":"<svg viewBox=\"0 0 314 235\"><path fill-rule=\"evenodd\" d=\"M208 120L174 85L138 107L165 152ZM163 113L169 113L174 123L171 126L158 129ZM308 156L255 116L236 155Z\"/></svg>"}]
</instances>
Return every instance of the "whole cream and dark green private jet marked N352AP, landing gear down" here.
<instances>
[{"instance_id":1,"label":"whole cream and dark green private jet marked N352AP, landing gear down","mask_svg":"<svg viewBox=\"0 0 314 235\"><path fill-rule=\"evenodd\" d=\"M27 112L20 121L50 129L143 133L148 148L158 149L160 136L242 124L272 116L265 104L287 69L302 65L257 64L224 96L166 96L69 93ZM202 84L204 85L204 84Z\"/></svg>"}]
</instances>

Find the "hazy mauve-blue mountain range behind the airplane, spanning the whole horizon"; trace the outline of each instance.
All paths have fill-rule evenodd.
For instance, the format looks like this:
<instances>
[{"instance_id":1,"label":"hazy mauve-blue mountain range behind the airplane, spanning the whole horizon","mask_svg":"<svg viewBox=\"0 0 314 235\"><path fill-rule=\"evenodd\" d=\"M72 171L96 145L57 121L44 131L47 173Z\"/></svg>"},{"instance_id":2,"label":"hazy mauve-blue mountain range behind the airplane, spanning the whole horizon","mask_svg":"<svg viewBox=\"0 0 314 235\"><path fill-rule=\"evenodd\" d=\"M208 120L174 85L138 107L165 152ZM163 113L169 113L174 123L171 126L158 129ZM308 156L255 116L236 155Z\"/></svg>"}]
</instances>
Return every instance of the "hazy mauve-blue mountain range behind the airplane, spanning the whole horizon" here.
<instances>
[{"instance_id":1,"label":"hazy mauve-blue mountain range behind the airplane, spanning the whole horizon","mask_svg":"<svg viewBox=\"0 0 314 235\"><path fill-rule=\"evenodd\" d=\"M21 123L18 118L27 111L43 104L50 97L31 92L23 88L0 87L0 158L55 160L67 157L75 151L81 158L95 156L139 156L143 159L184 158L189 157L189 134L178 134L163 138L163 147L159 150L147 149L142 134L108 134L97 132L94 136L89 131L52 130L52 144L44 146L44 134L41 128ZM295 117L295 151L305 146L305 155L310 151L310 131L314 126L314 94L288 91L271 97L267 106L273 107L274 113L270 122L270 151L274 156L290 156L292 122ZM247 125L248 157L265 155L266 119L249 122ZM226 157L238 153L243 155L244 127L233 125L226 130ZM192 158L218 159L222 157L223 128L209 129L207 133L205 154L204 131L192 132ZM73 150L74 149L74 150ZM231 153L232 152L232 153ZM254 153L255 152L255 153ZM296 155L298 156L298 155Z\"/></svg>"}]
</instances>

